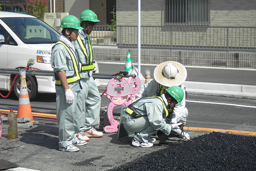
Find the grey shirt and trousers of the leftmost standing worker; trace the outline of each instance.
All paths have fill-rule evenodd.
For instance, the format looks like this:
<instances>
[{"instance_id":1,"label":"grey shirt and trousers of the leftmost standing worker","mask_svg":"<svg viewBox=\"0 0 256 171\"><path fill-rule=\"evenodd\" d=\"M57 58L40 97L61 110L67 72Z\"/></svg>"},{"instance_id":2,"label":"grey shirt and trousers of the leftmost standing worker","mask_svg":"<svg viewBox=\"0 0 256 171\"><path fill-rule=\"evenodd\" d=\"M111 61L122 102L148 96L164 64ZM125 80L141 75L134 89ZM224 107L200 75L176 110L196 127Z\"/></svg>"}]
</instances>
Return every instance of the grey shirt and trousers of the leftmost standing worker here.
<instances>
[{"instance_id":1,"label":"grey shirt and trousers of the leftmost standing worker","mask_svg":"<svg viewBox=\"0 0 256 171\"><path fill-rule=\"evenodd\" d=\"M71 48L70 50L76 57L75 51ZM55 45L52 49L51 64L55 72L65 71L67 77L73 76L75 73L72 58L67 49L61 44ZM76 135L79 133L81 120L85 119L85 115L82 114L83 101L79 82L69 84L70 89L75 96L75 99L71 104L66 103L64 87L62 85L55 85L56 114L59 127L58 136L60 147L66 147L78 140Z\"/></svg>"}]
</instances>

